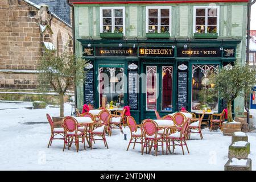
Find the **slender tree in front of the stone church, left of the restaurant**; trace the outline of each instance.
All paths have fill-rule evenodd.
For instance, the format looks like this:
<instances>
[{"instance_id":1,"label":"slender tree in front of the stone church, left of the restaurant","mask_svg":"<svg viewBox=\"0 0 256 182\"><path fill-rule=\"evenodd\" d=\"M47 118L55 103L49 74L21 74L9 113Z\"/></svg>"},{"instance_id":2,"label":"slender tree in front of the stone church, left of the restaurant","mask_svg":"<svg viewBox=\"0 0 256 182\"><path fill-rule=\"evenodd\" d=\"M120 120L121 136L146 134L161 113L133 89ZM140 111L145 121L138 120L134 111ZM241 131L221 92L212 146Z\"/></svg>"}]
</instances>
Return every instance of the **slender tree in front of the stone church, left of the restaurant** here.
<instances>
[{"instance_id":1,"label":"slender tree in front of the stone church, left of the restaurant","mask_svg":"<svg viewBox=\"0 0 256 182\"><path fill-rule=\"evenodd\" d=\"M67 89L84 79L85 60L68 52L67 48L61 55L55 50L45 49L38 65L38 88L43 92L51 89L59 94L60 117L53 117L58 122L64 117L64 95Z\"/></svg>"}]
</instances>

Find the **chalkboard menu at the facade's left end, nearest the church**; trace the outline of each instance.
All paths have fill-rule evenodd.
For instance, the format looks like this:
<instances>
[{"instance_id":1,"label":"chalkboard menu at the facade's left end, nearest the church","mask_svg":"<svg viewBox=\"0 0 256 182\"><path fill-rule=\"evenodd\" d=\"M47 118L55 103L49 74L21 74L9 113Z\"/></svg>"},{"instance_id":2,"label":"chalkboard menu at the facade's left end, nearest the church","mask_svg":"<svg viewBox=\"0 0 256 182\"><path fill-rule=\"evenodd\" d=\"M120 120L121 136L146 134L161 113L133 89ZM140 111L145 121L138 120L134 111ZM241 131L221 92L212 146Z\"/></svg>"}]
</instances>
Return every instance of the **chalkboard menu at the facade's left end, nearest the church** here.
<instances>
[{"instance_id":1,"label":"chalkboard menu at the facade's left end, nearest the church","mask_svg":"<svg viewBox=\"0 0 256 182\"><path fill-rule=\"evenodd\" d=\"M93 70L86 73L85 83L84 83L84 100L85 104L94 105L94 89L93 89Z\"/></svg>"}]
</instances>

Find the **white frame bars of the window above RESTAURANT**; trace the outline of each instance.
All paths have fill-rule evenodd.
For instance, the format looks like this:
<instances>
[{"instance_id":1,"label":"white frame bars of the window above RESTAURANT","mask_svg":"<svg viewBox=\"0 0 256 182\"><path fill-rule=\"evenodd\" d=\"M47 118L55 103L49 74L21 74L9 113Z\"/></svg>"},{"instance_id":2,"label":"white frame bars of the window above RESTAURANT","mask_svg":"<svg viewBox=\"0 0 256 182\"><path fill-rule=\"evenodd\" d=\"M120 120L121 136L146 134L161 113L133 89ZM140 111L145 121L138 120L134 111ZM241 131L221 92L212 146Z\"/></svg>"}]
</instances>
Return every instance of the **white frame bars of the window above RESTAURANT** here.
<instances>
[{"instance_id":1,"label":"white frame bars of the window above RESTAURANT","mask_svg":"<svg viewBox=\"0 0 256 182\"><path fill-rule=\"evenodd\" d=\"M100 32L103 33L103 10L111 10L111 33L114 33L115 27L115 16L114 10L123 10L123 35L125 35L125 7L124 6L116 6L116 7L100 7ZM109 32L110 33L110 32Z\"/></svg>"}]
</instances>

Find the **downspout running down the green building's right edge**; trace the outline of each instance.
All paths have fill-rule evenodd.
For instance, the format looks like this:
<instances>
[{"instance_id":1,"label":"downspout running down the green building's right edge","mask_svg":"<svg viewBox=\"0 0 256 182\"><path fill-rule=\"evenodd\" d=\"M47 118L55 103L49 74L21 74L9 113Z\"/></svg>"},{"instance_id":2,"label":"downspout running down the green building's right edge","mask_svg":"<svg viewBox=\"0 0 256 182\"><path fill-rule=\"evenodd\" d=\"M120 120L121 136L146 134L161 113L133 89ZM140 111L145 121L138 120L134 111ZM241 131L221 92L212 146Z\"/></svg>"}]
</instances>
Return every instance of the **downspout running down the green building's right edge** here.
<instances>
[{"instance_id":1,"label":"downspout running down the green building's right edge","mask_svg":"<svg viewBox=\"0 0 256 182\"><path fill-rule=\"evenodd\" d=\"M251 6L256 2L256 0L250 0L247 5L247 48L246 48L246 64L249 64L250 56L250 29L251 29ZM250 110L248 105L248 96L245 96L245 110L246 110L246 121L250 129Z\"/></svg>"}]
</instances>

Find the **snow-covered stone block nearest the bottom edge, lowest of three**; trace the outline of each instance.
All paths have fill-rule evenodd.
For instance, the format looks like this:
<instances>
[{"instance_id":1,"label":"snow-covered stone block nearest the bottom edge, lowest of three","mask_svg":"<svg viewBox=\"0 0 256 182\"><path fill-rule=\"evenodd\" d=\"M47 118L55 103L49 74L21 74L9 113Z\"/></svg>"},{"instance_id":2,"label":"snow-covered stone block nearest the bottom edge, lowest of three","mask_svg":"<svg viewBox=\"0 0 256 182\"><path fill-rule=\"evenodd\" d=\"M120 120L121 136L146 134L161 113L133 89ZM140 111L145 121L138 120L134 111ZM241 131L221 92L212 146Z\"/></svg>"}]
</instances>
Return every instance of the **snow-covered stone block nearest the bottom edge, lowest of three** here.
<instances>
[{"instance_id":1,"label":"snow-covered stone block nearest the bottom edge, lowest of three","mask_svg":"<svg viewBox=\"0 0 256 182\"><path fill-rule=\"evenodd\" d=\"M251 171L251 159L229 159L224 166L225 171Z\"/></svg>"}]
</instances>

